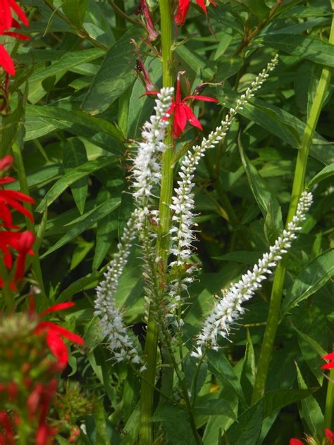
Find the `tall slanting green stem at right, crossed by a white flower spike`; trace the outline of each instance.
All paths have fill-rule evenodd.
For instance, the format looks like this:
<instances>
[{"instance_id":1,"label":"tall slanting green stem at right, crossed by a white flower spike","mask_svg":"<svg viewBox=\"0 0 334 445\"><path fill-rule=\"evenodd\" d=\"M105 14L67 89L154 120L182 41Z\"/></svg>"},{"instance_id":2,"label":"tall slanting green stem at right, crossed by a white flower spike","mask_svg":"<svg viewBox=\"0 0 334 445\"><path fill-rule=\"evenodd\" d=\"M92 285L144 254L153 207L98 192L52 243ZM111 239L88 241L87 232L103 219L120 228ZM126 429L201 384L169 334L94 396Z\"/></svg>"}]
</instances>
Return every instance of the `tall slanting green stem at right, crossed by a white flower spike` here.
<instances>
[{"instance_id":1,"label":"tall slanting green stem at right, crossed by a white flower spike","mask_svg":"<svg viewBox=\"0 0 334 445\"><path fill-rule=\"evenodd\" d=\"M333 5L332 5L333 6ZM329 43L334 44L334 18L332 19L332 25L330 27ZM304 190L305 173L307 169L307 158L309 156L309 147L316 130L316 124L321 113L323 101L326 98L328 85L330 82L330 70L323 68L321 77L318 82L316 94L314 95L314 101L311 106L311 111L307 119L307 124L302 137L302 142L299 146L297 161L295 166L295 176L292 185L292 194L289 211L287 213L286 225L290 223L295 215L299 196ZM278 265L276 274L273 280L273 289L271 292L271 302L269 305L269 312L266 324L266 330L264 332L264 340L261 346L261 353L259 357L259 366L256 372L256 379L254 384L254 393L252 397L252 403L256 403L264 395L266 388L266 381L268 377L268 370L271 361L271 354L273 351L273 344L276 337L276 331L280 318L280 303L282 301L283 284L285 277L285 261Z\"/></svg>"}]
</instances>

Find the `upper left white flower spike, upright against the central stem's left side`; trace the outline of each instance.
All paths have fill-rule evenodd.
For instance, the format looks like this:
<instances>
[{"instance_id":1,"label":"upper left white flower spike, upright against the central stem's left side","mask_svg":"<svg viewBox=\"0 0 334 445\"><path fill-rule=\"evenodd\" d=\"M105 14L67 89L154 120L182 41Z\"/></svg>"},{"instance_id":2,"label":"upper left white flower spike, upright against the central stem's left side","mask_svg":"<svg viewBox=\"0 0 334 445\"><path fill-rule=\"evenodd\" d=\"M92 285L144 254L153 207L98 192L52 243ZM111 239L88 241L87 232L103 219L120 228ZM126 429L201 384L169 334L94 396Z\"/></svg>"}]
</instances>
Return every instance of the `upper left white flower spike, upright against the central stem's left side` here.
<instances>
[{"instance_id":1,"label":"upper left white flower spike, upright against the central stem's left side","mask_svg":"<svg viewBox=\"0 0 334 445\"><path fill-rule=\"evenodd\" d=\"M134 199L148 199L154 184L161 179L159 153L166 149L163 139L168 126L168 108L171 106L173 88L162 88L156 99L155 115L149 118L142 130L142 142L138 144L137 156L133 162Z\"/></svg>"}]
</instances>

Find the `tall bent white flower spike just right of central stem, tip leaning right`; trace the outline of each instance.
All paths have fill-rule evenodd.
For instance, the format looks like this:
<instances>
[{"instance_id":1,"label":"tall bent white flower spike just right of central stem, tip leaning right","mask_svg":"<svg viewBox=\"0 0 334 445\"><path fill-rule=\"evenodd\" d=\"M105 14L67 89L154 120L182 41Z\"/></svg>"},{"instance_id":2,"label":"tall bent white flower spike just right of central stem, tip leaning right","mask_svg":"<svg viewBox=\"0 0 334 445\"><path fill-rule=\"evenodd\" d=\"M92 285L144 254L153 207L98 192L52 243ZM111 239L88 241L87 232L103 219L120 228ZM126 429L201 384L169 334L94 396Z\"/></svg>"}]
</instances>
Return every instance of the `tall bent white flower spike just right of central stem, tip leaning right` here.
<instances>
[{"instance_id":1,"label":"tall bent white flower spike just right of central stem, tip leaning right","mask_svg":"<svg viewBox=\"0 0 334 445\"><path fill-rule=\"evenodd\" d=\"M197 164L204 156L206 149L213 148L223 139L237 112L242 110L247 101L254 96L256 90L261 88L261 85L277 63L278 56L275 56L266 68L256 76L246 92L237 99L237 105L235 108L230 108L230 113L225 116L221 125L211 132L207 139L204 138L202 144L192 147L192 151L183 158L180 165L180 180L178 180L178 187L175 188L175 196L173 196L171 204L174 214L172 218L173 225L170 230L172 242L170 253L176 257L171 265L183 265L192 254L192 242L195 239L192 230L194 225L194 214L192 213L194 208L194 194L192 193L194 182L192 180Z\"/></svg>"}]
</instances>

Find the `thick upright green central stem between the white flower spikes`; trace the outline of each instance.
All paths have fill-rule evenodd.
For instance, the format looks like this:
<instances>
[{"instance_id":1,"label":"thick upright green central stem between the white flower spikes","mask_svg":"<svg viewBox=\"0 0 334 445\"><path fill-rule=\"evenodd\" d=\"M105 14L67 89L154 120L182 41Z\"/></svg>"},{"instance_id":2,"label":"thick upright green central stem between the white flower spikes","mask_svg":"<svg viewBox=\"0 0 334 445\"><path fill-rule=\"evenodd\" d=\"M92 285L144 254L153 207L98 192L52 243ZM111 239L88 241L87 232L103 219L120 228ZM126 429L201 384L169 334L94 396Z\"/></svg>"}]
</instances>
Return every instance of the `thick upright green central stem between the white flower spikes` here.
<instances>
[{"instance_id":1,"label":"thick upright green central stem between the white flower spikes","mask_svg":"<svg viewBox=\"0 0 334 445\"><path fill-rule=\"evenodd\" d=\"M172 75L172 12L170 0L160 0L161 18L161 52L163 68L163 87L173 86ZM171 211L169 205L173 191L173 140L170 132L165 140L167 149L163 153L162 159L162 180L161 194L159 202L159 239L158 255L162 258L164 268L166 268L168 258L168 232L171 224ZM149 321L147 323L147 336L145 341L145 356L147 369L144 371L141 391L140 406L140 444L149 445L153 442L153 423L151 417L154 410L154 383L156 377L156 356L158 347L159 330L154 320L152 308L149 309Z\"/></svg>"}]
</instances>

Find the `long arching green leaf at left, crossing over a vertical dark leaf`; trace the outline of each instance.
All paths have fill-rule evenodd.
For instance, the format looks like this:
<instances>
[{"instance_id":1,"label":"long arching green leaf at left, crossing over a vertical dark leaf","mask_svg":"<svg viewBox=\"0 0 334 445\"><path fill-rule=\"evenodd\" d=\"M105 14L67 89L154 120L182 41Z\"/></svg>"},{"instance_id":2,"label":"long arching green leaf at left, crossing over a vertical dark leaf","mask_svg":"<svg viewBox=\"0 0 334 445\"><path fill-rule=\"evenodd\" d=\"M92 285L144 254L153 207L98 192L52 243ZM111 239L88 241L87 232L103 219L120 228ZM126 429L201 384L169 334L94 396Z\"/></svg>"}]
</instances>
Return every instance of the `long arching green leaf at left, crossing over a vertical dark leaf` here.
<instances>
[{"instance_id":1,"label":"long arching green leaf at left, crossing over a vertical dark leaf","mask_svg":"<svg viewBox=\"0 0 334 445\"><path fill-rule=\"evenodd\" d=\"M111 165L116 162L116 160L116 156L101 156L100 158L94 159L94 161L88 161L85 164L80 165L80 167L71 168L51 187L51 189L49 189L49 192L44 196L35 211L42 212L46 203L47 206L53 203L54 200L57 199L58 196L60 196L71 184L80 180L82 177L91 175L106 165Z\"/></svg>"}]
</instances>

